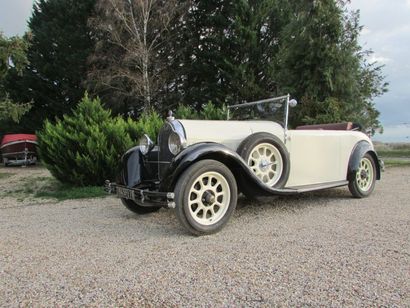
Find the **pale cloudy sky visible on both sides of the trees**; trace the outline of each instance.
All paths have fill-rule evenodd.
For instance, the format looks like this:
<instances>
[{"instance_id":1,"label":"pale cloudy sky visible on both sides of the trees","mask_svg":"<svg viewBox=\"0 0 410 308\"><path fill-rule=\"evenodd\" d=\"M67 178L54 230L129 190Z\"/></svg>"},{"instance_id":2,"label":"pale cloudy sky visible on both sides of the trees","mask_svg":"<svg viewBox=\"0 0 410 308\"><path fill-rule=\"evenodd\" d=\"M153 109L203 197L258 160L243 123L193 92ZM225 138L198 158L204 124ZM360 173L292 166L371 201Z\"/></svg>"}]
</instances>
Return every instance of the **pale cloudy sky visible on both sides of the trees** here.
<instances>
[{"instance_id":1,"label":"pale cloudy sky visible on both sides of the trees","mask_svg":"<svg viewBox=\"0 0 410 308\"><path fill-rule=\"evenodd\" d=\"M0 31L23 34L33 2L0 0ZM390 83L389 92L375 99L384 126L375 139L410 142L410 0L351 0L350 8L360 10L360 43L374 52L369 61L385 65Z\"/></svg>"}]
</instances>

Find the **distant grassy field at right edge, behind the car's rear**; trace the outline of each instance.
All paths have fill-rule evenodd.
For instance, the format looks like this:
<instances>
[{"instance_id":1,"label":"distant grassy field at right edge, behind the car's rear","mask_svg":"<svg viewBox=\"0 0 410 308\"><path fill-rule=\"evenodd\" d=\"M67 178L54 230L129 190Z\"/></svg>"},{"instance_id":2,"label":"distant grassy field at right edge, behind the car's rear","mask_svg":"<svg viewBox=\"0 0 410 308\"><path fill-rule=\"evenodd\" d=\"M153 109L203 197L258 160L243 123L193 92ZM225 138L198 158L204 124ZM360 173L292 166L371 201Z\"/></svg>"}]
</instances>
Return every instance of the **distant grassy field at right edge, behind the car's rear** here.
<instances>
[{"instance_id":1,"label":"distant grassy field at right edge, behind the car's rear","mask_svg":"<svg viewBox=\"0 0 410 308\"><path fill-rule=\"evenodd\" d=\"M387 166L410 165L410 143L375 142L374 146Z\"/></svg>"}]
</instances>

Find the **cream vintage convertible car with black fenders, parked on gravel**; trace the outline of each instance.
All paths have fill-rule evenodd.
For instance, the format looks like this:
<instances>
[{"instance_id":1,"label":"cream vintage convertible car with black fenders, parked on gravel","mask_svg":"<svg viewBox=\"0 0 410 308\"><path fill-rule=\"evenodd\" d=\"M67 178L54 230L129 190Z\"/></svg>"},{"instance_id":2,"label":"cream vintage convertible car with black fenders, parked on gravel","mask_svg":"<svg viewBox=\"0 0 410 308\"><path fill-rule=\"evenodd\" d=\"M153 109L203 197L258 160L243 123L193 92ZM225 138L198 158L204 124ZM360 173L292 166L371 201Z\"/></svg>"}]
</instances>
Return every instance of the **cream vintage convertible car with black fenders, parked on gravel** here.
<instances>
[{"instance_id":1,"label":"cream vintage convertible car with black fenders, parked on gravel","mask_svg":"<svg viewBox=\"0 0 410 308\"><path fill-rule=\"evenodd\" d=\"M352 123L288 130L296 104L286 95L234 105L226 121L171 113L158 143L145 135L128 150L117 183L106 181L106 189L138 214L175 209L195 235L220 230L240 192L253 198L348 185L356 198L370 195L382 162L369 137Z\"/></svg>"}]
</instances>

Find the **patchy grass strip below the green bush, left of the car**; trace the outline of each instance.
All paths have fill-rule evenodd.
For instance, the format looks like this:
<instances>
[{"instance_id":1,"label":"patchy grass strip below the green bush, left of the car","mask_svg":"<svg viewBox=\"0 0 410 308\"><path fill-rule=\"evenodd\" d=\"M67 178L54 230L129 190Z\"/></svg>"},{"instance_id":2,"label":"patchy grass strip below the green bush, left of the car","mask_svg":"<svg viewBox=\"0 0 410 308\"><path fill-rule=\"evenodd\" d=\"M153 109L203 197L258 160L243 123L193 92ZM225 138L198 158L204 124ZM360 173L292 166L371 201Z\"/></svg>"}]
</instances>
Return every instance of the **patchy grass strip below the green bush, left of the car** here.
<instances>
[{"instance_id":1,"label":"patchy grass strip below the green bush, left of the car","mask_svg":"<svg viewBox=\"0 0 410 308\"><path fill-rule=\"evenodd\" d=\"M52 177L27 177L19 187L7 191L19 201L27 198L57 199L58 201L104 197L102 186L75 187L62 184Z\"/></svg>"}]
</instances>

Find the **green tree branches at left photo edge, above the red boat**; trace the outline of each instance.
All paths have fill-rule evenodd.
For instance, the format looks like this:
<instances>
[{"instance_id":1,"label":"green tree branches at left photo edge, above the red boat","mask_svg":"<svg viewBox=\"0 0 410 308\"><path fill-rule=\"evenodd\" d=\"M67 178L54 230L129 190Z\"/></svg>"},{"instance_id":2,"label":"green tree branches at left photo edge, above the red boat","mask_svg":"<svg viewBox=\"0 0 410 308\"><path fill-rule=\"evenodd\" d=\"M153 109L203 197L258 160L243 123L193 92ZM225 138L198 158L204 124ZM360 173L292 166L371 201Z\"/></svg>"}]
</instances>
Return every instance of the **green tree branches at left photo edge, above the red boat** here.
<instances>
[{"instance_id":1,"label":"green tree branches at left photo edge, above the red boat","mask_svg":"<svg viewBox=\"0 0 410 308\"><path fill-rule=\"evenodd\" d=\"M27 64L28 37L5 37L0 32L0 121L12 120L19 122L20 118L30 109L29 103L15 103L9 98L5 80L10 70L21 74Z\"/></svg>"}]
</instances>

